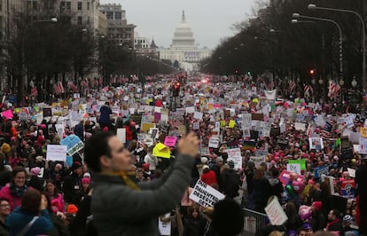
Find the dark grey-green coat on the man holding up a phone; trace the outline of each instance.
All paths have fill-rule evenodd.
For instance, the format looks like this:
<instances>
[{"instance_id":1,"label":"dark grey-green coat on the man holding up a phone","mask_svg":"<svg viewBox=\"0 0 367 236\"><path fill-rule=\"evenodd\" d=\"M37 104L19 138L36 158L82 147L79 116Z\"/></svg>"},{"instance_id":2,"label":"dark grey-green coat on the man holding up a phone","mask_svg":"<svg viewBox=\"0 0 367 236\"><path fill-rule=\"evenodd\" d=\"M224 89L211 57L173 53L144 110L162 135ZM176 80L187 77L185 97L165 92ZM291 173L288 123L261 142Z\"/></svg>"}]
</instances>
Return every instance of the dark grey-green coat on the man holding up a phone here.
<instances>
[{"instance_id":1,"label":"dark grey-green coat on the man holding up a phone","mask_svg":"<svg viewBox=\"0 0 367 236\"><path fill-rule=\"evenodd\" d=\"M182 198L193 161L179 154L162 177L139 183L140 191L131 189L121 177L96 174L91 211L99 236L160 235L157 219Z\"/></svg>"}]
</instances>

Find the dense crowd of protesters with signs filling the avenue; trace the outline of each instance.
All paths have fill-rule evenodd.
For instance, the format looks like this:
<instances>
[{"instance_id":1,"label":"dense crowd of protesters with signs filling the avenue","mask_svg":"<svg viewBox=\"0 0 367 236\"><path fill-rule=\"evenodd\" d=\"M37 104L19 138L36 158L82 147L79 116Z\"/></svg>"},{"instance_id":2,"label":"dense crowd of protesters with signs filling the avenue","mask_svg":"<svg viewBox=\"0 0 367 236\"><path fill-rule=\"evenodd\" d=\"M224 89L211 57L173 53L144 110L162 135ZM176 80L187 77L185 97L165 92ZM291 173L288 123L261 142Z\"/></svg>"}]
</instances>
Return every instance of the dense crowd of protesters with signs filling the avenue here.
<instances>
[{"instance_id":1,"label":"dense crowd of protesters with signs filling the avenue","mask_svg":"<svg viewBox=\"0 0 367 236\"><path fill-rule=\"evenodd\" d=\"M312 235L317 231L337 235L367 234L367 182L363 181L367 175L367 159L361 154L363 147L354 148L361 144L350 138L362 132L363 115L343 114L345 111L330 109L326 104L311 105L300 95L292 101L269 101L264 97L266 88L262 80L251 82L246 78L230 82L228 78L225 81L213 78L213 83L182 84L183 113L171 109L168 130L165 130L154 113L144 109L146 106L172 108L171 83L166 82L166 86L147 83L143 89L129 84L119 90L106 87L93 91L89 97L100 98L103 105L98 111L82 116L74 125L64 125L62 136L56 127L58 119L49 117L36 122L29 115L25 121L15 112L17 107L4 102L2 111L12 110L13 116L0 118L0 235L98 233L90 209L96 169L89 169L85 164L84 150L74 153L69 164L46 160L48 145L59 145L71 134L84 142L99 133L111 131L116 134L118 129L124 128L125 147L135 167L132 180L137 185L144 185L169 172L178 155L176 146L170 147L171 158L168 159L154 155L153 148L159 142L164 143L166 136L183 137L179 128L185 123L197 133L202 148L192 166L191 184L183 193L181 204L177 202L169 214L159 217L160 222L169 222L171 235L236 235L242 231L244 221L239 205L265 213L274 196L283 206L287 220L282 225L257 227L258 235L277 235L277 232ZM74 109L72 100L68 100L70 105L66 106L69 111ZM116 106L118 113L113 111ZM189 106L194 112L185 109ZM130 114L121 112L132 107L135 111ZM265 107L269 108L268 112L264 111ZM286 113L289 109L291 114ZM130 119L130 115L139 110L143 116L154 116L151 122L160 130L158 138L144 138L147 131L142 129L143 122ZM194 115L196 112L202 117ZM241 114L244 113L263 116L260 119L253 116L250 127L244 129L241 126ZM178 116L181 117L177 119ZM343 120L349 116L352 124ZM323 117L323 122L316 122L316 117ZM269 135L259 130L259 122L270 123ZM199 127L194 128L196 123ZM300 128L300 123L304 127ZM248 130L248 134L244 130ZM144 133L146 135L141 136ZM341 141L346 136L347 147ZM217 146L210 144L213 137L220 137ZM317 140L322 145L310 144L310 138L321 138ZM205 152L203 147L207 147ZM228 149L233 148L240 149L239 168L228 153ZM346 153L349 149L352 152ZM263 161L253 158L259 151L262 151ZM282 174L287 164L298 160L305 160L305 168L299 173L289 171L289 176L284 178ZM325 170L318 175L318 169ZM329 177L332 182L328 181ZM226 200L219 201L214 209L192 201L189 196L199 179L223 193ZM347 189L343 185L349 183L346 180L354 180ZM156 224L159 224L158 219ZM98 222L98 230L101 225Z\"/></svg>"}]
</instances>

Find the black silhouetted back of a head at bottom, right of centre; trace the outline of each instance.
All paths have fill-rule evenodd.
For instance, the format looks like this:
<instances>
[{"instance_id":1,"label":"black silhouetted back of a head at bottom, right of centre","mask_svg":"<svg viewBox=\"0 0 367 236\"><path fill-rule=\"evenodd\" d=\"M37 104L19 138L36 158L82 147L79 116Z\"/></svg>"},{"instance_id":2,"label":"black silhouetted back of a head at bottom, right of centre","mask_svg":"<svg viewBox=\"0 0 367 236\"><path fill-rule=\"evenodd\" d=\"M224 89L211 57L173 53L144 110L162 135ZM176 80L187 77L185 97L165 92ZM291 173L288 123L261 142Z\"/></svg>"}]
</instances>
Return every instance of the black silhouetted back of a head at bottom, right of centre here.
<instances>
[{"instance_id":1,"label":"black silhouetted back of a head at bottom, right of centre","mask_svg":"<svg viewBox=\"0 0 367 236\"><path fill-rule=\"evenodd\" d=\"M213 228L218 236L238 235L244 227L244 213L236 201L224 199L215 204Z\"/></svg>"}]
</instances>

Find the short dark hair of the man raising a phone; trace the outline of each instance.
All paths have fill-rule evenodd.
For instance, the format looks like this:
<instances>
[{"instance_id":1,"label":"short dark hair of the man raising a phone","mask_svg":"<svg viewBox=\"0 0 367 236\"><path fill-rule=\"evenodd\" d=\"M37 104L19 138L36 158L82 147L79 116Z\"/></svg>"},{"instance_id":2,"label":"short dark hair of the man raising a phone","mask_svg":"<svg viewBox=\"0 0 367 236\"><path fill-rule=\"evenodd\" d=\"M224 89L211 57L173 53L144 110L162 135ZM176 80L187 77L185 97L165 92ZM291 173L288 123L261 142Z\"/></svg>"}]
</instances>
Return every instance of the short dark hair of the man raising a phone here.
<instances>
[{"instance_id":1,"label":"short dark hair of the man raising a phone","mask_svg":"<svg viewBox=\"0 0 367 236\"><path fill-rule=\"evenodd\" d=\"M94 172L100 172L101 166L99 158L103 155L111 157L110 146L108 140L113 137L111 132L101 132L90 137L84 146L84 161Z\"/></svg>"}]
</instances>

